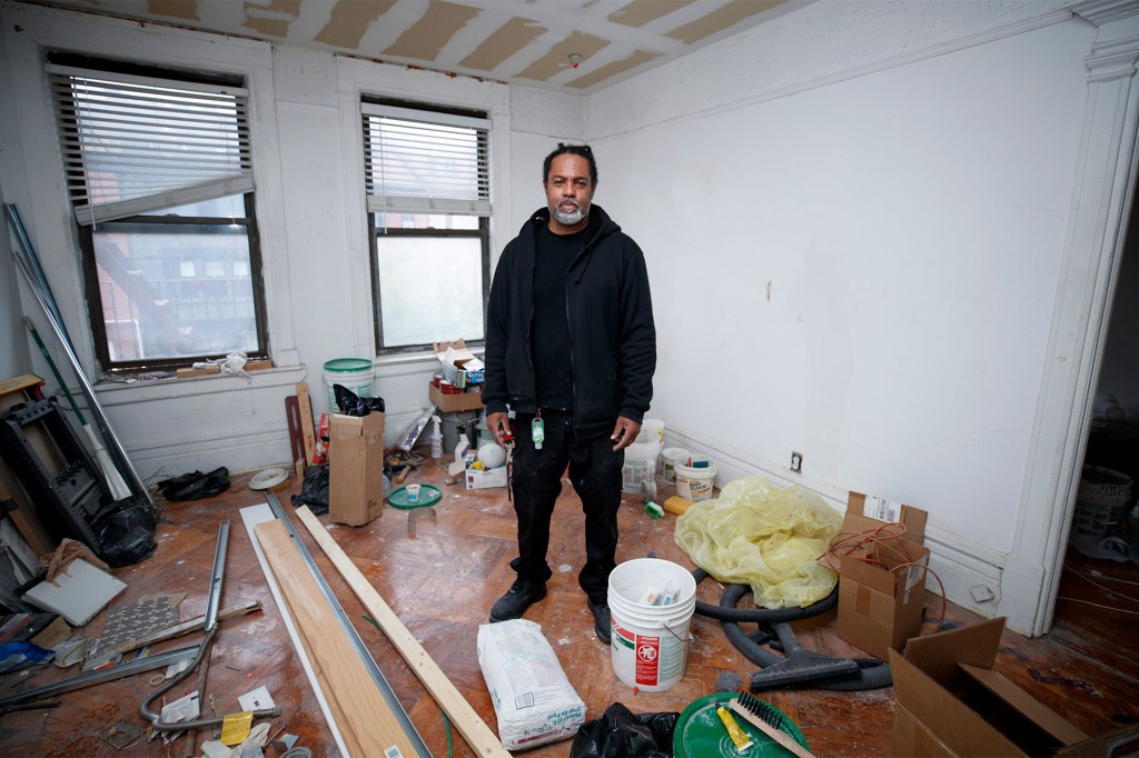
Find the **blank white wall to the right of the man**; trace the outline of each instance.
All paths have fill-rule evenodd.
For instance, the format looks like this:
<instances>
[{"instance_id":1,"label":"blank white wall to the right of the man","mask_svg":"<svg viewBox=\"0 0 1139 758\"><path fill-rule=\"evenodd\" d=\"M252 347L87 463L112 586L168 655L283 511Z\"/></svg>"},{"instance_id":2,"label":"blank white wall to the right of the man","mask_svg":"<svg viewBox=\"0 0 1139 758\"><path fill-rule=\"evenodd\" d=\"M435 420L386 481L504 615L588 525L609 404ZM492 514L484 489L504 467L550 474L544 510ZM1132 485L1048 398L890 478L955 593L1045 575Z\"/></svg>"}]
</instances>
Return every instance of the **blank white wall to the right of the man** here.
<instances>
[{"instance_id":1,"label":"blank white wall to the right of the man","mask_svg":"<svg viewBox=\"0 0 1139 758\"><path fill-rule=\"evenodd\" d=\"M1096 40L1058 2L821 1L587 100L597 203L648 256L666 435L721 484L927 510L950 596L1022 631L1043 593L1003 572L1055 505L1026 485L1071 413L1041 393L1077 357L1049 351Z\"/></svg>"}]
</instances>

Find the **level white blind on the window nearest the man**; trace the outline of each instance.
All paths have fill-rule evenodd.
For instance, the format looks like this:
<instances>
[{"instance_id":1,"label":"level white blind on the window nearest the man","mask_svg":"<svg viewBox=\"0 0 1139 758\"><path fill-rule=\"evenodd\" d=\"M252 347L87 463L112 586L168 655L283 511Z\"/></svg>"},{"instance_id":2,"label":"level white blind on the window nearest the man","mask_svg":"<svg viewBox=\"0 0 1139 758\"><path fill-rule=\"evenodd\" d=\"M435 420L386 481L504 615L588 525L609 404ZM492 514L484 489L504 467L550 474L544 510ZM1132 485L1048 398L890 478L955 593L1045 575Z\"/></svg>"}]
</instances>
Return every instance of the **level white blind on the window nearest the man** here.
<instances>
[{"instance_id":1,"label":"level white blind on the window nearest the man","mask_svg":"<svg viewBox=\"0 0 1139 758\"><path fill-rule=\"evenodd\" d=\"M491 215L490 120L361 104L371 213Z\"/></svg>"}]
</instances>

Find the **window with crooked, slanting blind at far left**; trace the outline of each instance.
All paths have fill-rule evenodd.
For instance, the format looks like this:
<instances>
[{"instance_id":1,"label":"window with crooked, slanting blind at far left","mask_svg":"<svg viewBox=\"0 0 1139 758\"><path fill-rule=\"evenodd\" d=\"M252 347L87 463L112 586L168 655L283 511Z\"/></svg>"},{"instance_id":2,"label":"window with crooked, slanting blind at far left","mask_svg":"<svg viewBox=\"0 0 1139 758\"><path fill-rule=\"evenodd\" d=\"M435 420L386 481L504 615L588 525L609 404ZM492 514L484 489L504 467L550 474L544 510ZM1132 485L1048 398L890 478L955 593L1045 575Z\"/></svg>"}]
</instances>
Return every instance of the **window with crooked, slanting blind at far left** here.
<instances>
[{"instance_id":1,"label":"window with crooked, slanting blind at far left","mask_svg":"<svg viewBox=\"0 0 1139 758\"><path fill-rule=\"evenodd\" d=\"M48 60L103 366L264 357L243 82Z\"/></svg>"}]
</instances>

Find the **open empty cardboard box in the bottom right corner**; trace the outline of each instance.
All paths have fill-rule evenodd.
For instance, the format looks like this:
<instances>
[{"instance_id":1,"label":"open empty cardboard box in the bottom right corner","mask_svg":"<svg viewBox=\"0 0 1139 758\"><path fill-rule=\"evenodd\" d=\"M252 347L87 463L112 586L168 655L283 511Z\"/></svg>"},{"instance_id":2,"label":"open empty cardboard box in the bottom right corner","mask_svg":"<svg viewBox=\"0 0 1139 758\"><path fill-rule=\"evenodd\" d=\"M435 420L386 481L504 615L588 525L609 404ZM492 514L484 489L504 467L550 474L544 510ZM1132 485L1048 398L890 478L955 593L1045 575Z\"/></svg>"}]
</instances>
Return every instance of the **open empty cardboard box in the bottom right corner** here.
<instances>
[{"instance_id":1,"label":"open empty cardboard box in the bottom right corner","mask_svg":"<svg viewBox=\"0 0 1139 758\"><path fill-rule=\"evenodd\" d=\"M890 651L890 755L1049 756L1088 739L992 670L1003 629L1005 619L994 618L915 637L904 656Z\"/></svg>"}]
</instances>

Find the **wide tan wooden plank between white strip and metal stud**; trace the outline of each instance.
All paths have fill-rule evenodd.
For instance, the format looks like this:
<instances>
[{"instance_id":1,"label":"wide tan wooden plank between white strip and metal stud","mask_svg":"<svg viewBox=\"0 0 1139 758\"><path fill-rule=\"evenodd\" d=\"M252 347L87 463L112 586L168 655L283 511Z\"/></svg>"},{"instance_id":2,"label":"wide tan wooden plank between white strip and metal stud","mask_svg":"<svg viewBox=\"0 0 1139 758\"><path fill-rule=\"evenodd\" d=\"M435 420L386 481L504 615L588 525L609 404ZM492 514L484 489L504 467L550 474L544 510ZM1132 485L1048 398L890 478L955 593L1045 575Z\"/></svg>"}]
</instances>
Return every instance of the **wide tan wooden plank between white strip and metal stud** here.
<instances>
[{"instance_id":1,"label":"wide tan wooden plank between white strip and metal stud","mask_svg":"<svg viewBox=\"0 0 1139 758\"><path fill-rule=\"evenodd\" d=\"M280 521L254 527L352 756L416 755ZM392 749L399 752L390 752Z\"/></svg>"}]
</instances>

